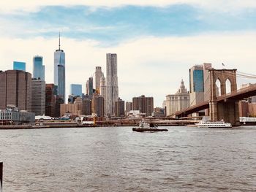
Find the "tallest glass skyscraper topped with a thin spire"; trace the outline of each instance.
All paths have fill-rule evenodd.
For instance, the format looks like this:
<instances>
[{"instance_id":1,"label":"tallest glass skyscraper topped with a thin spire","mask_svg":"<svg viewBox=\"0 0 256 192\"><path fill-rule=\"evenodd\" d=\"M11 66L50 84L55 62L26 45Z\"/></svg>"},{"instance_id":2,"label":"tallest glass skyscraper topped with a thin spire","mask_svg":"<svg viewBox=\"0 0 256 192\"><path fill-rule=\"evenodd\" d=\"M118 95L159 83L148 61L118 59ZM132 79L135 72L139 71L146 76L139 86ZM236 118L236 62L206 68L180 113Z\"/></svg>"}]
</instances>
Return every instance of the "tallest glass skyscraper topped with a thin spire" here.
<instances>
[{"instance_id":1,"label":"tallest glass skyscraper topped with a thin spire","mask_svg":"<svg viewBox=\"0 0 256 192\"><path fill-rule=\"evenodd\" d=\"M59 50L54 52L54 85L57 94L65 101L65 53L61 50L61 38L59 35Z\"/></svg>"}]
</instances>

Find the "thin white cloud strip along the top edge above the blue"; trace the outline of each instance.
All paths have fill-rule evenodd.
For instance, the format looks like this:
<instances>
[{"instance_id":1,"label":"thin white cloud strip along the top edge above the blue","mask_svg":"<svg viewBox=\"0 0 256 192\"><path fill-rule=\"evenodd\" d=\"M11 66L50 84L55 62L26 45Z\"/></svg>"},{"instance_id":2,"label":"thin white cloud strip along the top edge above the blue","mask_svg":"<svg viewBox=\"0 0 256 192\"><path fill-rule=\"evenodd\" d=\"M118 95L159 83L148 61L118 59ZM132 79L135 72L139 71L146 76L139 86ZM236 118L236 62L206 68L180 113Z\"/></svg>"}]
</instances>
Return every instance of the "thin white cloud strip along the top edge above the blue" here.
<instances>
[{"instance_id":1,"label":"thin white cloud strip along the top edge above the blue","mask_svg":"<svg viewBox=\"0 0 256 192\"><path fill-rule=\"evenodd\" d=\"M238 9L252 9L256 7L256 1L254 0L26 0L26 1L0 1L1 12L15 12L20 14L21 12L37 12L39 9L45 6L58 6L71 7L75 5L84 5L89 7L122 7L127 5L134 6L151 6L151 7L166 7L173 4L189 4L195 7L202 7L203 9L218 10L232 12ZM93 11L93 9L91 9Z\"/></svg>"}]
</instances>

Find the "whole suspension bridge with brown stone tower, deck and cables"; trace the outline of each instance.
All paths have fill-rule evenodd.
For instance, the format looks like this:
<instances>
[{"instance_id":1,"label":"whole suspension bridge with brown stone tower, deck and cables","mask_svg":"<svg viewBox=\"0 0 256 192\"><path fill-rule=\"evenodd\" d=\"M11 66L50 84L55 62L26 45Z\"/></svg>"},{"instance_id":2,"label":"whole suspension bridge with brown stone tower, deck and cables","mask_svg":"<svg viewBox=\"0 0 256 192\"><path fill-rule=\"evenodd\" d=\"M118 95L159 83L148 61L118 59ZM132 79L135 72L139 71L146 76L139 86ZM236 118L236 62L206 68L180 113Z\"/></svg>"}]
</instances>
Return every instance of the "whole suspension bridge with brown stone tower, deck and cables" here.
<instances>
[{"instance_id":1,"label":"whole suspension bridge with brown stone tower, deck and cables","mask_svg":"<svg viewBox=\"0 0 256 192\"><path fill-rule=\"evenodd\" d=\"M194 112L206 110L211 120L225 120L233 126L239 125L238 101L256 96L256 84L237 89L236 77L255 78L255 75L237 73L236 69L209 69L209 99L195 104L174 114L176 118L184 118ZM230 81L230 93L226 93L226 82ZM216 82L220 82L217 91ZM219 96L218 93L219 92Z\"/></svg>"}]
</instances>

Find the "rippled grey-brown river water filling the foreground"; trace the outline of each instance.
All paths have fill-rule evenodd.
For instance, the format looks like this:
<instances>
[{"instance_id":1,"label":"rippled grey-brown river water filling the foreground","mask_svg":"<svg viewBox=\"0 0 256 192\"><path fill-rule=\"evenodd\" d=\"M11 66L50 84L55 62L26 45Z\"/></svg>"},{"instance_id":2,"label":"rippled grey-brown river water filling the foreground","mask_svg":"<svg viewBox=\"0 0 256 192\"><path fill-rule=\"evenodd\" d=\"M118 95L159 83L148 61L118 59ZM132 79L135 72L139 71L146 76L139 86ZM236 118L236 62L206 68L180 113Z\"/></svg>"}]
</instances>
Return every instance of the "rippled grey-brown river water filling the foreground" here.
<instances>
[{"instance_id":1,"label":"rippled grey-brown river water filling the foreground","mask_svg":"<svg viewBox=\"0 0 256 192\"><path fill-rule=\"evenodd\" d=\"M3 191L256 191L256 127L0 130Z\"/></svg>"}]
</instances>

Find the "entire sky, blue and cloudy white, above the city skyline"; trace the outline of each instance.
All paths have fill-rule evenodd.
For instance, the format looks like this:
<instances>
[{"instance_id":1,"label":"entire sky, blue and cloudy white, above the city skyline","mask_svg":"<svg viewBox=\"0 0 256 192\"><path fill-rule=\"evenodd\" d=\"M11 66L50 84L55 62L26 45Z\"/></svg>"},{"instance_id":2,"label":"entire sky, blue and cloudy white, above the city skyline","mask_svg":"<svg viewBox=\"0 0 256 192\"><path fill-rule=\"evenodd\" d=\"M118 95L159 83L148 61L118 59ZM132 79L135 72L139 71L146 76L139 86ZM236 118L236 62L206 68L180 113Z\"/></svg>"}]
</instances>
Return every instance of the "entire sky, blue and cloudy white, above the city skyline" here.
<instances>
[{"instance_id":1,"label":"entire sky, blue and cloudy white, above the city skyline","mask_svg":"<svg viewBox=\"0 0 256 192\"><path fill-rule=\"evenodd\" d=\"M254 0L55 0L0 2L0 70L42 55L45 80L53 83L53 53L66 53L66 92L83 85L117 53L119 97L153 96L162 107L178 91L189 90L189 68L211 63L215 69L256 74ZM238 78L242 83L255 79Z\"/></svg>"}]
</instances>

